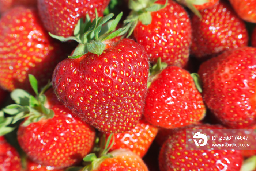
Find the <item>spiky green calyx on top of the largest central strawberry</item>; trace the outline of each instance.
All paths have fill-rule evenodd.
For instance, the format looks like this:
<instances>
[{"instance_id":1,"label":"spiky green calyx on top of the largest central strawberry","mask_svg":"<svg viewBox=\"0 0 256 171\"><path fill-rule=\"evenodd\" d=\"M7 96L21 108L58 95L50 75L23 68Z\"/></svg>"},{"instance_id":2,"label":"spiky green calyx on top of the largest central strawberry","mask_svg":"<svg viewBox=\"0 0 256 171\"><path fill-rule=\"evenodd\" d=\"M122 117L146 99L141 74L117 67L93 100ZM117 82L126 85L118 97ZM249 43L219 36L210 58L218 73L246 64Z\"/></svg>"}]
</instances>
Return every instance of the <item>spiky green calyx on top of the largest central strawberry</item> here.
<instances>
[{"instance_id":1,"label":"spiky green calyx on top of the largest central strawberry","mask_svg":"<svg viewBox=\"0 0 256 171\"><path fill-rule=\"evenodd\" d=\"M69 56L69 58L79 58L88 52L100 55L106 47L104 41L125 34L125 28L119 28L116 30L117 24L123 15L122 12L112 20L110 19L114 16L113 13L104 17L98 17L97 10L95 10L95 14L96 17L92 22L88 14L86 15L85 20L82 18L78 20L78 24L76 24L74 29L74 36L65 38L63 36L53 35L49 32L50 36L62 42L75 40L79 43L72 56Z\"/></svg>"}]
</instances>

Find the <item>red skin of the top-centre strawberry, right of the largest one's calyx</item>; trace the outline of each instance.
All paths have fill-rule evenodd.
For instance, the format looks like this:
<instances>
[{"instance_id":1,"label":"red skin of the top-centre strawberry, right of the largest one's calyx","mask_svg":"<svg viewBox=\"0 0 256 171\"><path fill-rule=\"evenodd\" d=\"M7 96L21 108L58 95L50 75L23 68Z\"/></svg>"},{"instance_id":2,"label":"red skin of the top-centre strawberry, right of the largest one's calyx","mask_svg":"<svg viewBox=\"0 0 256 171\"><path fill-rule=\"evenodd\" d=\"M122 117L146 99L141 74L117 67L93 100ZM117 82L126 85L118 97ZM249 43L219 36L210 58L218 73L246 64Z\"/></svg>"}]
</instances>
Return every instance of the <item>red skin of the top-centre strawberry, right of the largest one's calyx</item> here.
<instances>
[{"instance_id":1,"label":"red skin of the top-centre strawberry, right of the largest one's calyx","mask_svg":"<svg viewBox=\"0 0 256 171\"><path fill-rule=\"evenodd\" d=\"M165 1L157 1L165 4ZM134 38L149 55L150 62L156 63L161 57L168 65L183 67L188 62L191 44L191 23L185 9L169 0L165 8L151 12L151 24L138 22Z\"/></svg>"}]
</instances>

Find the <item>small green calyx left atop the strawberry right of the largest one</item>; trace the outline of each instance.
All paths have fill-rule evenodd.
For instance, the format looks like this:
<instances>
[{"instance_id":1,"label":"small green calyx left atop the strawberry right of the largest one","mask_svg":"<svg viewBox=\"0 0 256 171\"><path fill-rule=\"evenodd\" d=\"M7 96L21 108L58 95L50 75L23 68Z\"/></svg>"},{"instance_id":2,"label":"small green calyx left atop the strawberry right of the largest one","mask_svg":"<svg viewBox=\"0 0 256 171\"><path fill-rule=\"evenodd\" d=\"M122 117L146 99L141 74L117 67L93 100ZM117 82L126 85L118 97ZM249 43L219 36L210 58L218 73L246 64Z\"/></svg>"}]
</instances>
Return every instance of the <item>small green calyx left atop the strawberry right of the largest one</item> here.
<instances>
[{"instance_id":1,"label":"small green calyx left atop the strawberry right of the largest one","mask_svg":"<svg viewBox=\"0 0 256 171\"><path fill-rule=\"evenodd\" d=\"M155 78L157 78L157 75L161 73L163 69L167 67L167 63L162 62L161 58L157 58L157 63L153 65L149 70L149 76L148 76L148 82L147 87L149 88L151 83L154 81Z\"/></svg>"}]
</instances>

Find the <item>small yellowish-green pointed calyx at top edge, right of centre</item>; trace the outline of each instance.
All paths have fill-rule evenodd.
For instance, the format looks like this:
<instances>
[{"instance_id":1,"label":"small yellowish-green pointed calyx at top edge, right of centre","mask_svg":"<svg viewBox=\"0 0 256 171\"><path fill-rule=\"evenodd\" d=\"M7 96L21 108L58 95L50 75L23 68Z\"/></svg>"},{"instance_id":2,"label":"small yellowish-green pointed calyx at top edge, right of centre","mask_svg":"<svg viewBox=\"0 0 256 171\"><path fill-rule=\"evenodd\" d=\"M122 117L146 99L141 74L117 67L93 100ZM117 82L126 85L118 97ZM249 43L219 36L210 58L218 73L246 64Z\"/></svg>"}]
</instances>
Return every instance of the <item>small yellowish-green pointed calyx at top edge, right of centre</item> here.
<instances>
[{"instance_id":1,"label":"small yellowish-green pointed calyx at top edge, right of centre","mask_svg":"<svg viewBox=\"0 0 256 171\"><path fill-rule=\"evenodd\" d=\"M196 16L202 18L200 12L196 9L195 5L204 5L209 2L209 0L177 0L178 3L188 7Z\"/></svg>"}]
</instances>

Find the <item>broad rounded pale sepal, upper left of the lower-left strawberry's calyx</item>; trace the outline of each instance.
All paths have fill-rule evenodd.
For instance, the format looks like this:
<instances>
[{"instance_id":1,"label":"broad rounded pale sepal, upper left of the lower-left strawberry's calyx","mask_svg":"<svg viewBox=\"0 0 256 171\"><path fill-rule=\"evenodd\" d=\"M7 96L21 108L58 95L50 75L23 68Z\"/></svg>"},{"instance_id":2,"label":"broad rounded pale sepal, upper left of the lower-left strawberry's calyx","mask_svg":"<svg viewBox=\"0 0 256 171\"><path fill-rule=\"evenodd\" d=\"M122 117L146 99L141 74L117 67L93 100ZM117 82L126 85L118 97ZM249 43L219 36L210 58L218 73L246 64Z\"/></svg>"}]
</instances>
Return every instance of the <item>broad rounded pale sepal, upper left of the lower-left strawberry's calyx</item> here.
<instances>
[{"instance_id":1,"label":"broad rounded pale sepal, upper left of the lower-left strawberry's calyx","mask_svg":"<svg viewBox=\"0 0 256 171\"><path fill-rule=\"evenodd\" d=\"M30 94L22 89L15 89L10 94L12 100L16 104L20 104L22 106L28 106L29 105L29 97Z\"/></svg>"}]
</instances>

